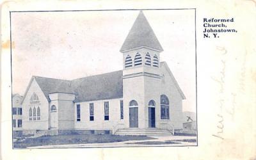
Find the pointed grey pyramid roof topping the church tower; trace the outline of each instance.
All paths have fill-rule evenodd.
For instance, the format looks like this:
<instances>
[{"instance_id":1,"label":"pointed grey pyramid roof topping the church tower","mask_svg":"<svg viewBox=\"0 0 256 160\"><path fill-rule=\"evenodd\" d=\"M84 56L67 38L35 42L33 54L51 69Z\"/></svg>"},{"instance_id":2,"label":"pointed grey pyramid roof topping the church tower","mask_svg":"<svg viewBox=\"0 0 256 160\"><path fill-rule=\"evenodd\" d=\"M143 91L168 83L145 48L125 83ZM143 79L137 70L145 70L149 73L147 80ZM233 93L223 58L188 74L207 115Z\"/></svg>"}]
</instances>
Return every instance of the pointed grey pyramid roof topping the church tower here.
<instances>
[{"instance_id":1,"label":"pointed grey pyramid roof topping the church tower","mask_svg":"<svg viewBox=\"0 0 256 160\"><path fill-rule=\"evenodd\" d=\"M125 52L138 47L150 47L158 51L163 51L161 44L157 40L156 35L143 12L139 13L131 31L127 35L127 38L120 49L120 52Z\"/></svg>"}]
</instances>

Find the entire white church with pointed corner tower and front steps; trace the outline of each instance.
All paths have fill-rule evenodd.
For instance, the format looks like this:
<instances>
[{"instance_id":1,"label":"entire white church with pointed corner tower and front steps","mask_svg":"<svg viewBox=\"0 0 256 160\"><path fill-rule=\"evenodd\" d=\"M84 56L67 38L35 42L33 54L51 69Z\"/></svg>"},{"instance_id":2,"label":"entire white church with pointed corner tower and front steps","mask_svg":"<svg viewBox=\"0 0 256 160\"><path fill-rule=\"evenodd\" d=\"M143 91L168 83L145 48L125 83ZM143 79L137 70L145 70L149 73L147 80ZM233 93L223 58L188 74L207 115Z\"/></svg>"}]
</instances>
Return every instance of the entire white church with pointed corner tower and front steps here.
<instances>
[{"instance_id":1,"label":"entire white church with pointed corner tower and front steps","mask_svg":"<svg viewBox=\"0 0 256 160\"><path fill-rule=\"evenodd\" d=\"M22 99L23 134L173 134L184 93L140 12L122 52L124 69L71 81L31 77Z\"/></svg>"}]
</instances>

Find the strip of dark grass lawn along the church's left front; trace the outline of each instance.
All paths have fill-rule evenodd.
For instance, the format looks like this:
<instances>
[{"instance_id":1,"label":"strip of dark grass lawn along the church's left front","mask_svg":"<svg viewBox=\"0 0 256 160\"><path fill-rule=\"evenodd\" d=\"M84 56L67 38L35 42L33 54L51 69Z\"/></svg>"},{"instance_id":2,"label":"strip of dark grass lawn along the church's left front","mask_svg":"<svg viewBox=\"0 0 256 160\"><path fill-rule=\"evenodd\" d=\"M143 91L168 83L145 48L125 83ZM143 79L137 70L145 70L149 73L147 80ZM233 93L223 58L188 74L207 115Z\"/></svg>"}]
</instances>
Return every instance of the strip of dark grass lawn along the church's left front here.
<instances>
[{"instance_id":1,"label":"strip of dark grass lawn along the church's left front","mask_svg":"<svg viewBox=\"0 0 256 160\"><path fill-rule=\"evenodd\" d=\"M42 145L67 145L67 144L84 144L84 143L111 143L128 140L152 140L147 136L120 136L112 134L76 134L76 135L58 135L58 136L41 136L37 138L26 138L13 142L13 148L26 148Z\"/></svg>"}]
</instances>

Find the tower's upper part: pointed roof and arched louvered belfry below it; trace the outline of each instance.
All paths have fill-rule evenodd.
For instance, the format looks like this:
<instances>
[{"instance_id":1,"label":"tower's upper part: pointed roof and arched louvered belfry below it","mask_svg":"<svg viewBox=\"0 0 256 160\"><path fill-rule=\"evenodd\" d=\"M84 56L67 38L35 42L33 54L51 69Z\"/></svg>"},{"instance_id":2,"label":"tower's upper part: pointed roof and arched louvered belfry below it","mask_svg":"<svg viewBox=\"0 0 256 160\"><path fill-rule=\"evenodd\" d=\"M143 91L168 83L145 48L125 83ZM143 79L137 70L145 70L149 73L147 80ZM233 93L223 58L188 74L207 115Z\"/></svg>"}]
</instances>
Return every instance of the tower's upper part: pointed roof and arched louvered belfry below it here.
<instances>
[{"instance_id":1,"label":"tower's upper part: pointed roof and arched louvered belfry below it","mask_svg":"<svg viewBox=\"0 0 256 160\"><path fill-rule=\"evenodd\" d=\"M159 66L163 51L143 12L140 11L120 52L124 54L124 70L138 66Z\"/></svg>"}]
</instances>

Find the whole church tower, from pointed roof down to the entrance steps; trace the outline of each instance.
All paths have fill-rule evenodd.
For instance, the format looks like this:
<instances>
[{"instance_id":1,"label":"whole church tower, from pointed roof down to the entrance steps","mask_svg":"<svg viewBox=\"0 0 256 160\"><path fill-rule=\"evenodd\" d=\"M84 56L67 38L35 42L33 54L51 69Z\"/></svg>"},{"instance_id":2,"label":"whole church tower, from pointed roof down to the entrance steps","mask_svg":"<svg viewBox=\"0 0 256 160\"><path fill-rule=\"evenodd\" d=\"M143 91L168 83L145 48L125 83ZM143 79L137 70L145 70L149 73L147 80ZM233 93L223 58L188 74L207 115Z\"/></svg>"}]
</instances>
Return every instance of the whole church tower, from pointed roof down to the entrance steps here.
<instances>
[{"instance_id":1,"label":"whole church tower, from pointed roof down to the entrance steps","mask_svg":"<svg viewBox=\"0 0 256 160\"><path fill-rule=\"evenodd\" d=\"M148 127L148 102L154 99L158 104L159 101L160 93L158 92L161 79L159 74L159 53L162 51L163 48L148 20L143 12L140 12L120 49L120 52L124 55L125 127ZM132 100L137 102L138 106L136 107L138 109L131 109ZM138 110L138 113L134 113L136 110ZM132 114L135 114L135 116ZM137 115L138 125L136 124ZM135 119L135 122L131 119ZM135 123L135 125L132 123Z\"/></svg>"}]
</instances>

